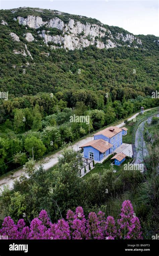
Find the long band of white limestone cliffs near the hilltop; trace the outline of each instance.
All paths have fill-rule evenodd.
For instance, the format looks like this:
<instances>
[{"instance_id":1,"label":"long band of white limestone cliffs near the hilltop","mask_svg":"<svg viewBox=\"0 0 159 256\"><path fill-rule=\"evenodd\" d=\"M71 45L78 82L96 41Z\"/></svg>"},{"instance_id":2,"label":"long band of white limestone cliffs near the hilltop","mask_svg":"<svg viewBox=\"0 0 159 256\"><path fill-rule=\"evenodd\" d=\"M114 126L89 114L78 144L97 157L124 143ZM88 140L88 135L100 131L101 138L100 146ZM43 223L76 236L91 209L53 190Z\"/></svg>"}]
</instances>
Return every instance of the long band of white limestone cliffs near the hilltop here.
<instances>
[{"instance_id":1,"label":"long band of white limestone cliffs near the hilltop","mask_svg":"<svg viewBox=\"0 0 159 256\"><path fill-rule=\"evenodd\" d=\"M55 12L56 13L56 12ZM132 34L117 33L113 37L111 31L97 24L86 23L83 24L80 21L74 21L69 19L69 22L66 24L59 18L54 18L44 22L41 17L36 17L29 15L27 18L17 17L19 24L28 26L30 28L40 28L45 26L46 29L38 31L40 37L43 38L44 43L48 46L48 42L52 42L55 45L52 49L64 48L68 50L81 49L89 45L95 45L99 49L109 49L117 46L121 46L119 42L116 42L115 39L127 42L130 45L134 40L137 44L142 44L139 38L134 37ZM61 30L60 35L51 35L47 28L57 28ZM27 35L28 34L28 35ZM26 34L26 39L28 41L33 41L34 37L31 33ZM107 36L107 43L102 42L102 38ZM101 38L101 39L100 39ZM129 46L128 46L129 47Z\"/></svg>"}]
</instances>

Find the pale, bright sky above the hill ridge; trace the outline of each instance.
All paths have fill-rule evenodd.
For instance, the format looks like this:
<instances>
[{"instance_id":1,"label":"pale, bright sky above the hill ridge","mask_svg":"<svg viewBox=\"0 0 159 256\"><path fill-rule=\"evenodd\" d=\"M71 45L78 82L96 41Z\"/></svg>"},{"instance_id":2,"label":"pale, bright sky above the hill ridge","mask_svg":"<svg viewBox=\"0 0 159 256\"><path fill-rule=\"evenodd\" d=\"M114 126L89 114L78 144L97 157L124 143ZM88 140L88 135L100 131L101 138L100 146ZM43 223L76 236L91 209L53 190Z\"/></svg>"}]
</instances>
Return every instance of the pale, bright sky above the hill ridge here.
<instances>
[{"instance_id":1,"label":"pale, bright sky above the hill ridge","mask_svg":"<svg viewBox=\"0 0 159 256\"><path fill-rule=\"evenodd\" d=\"M151 0L0 0L0 9L39 7L95 18L135 34L159 36L159 2Z\"/></svg>"}]
</instances>

